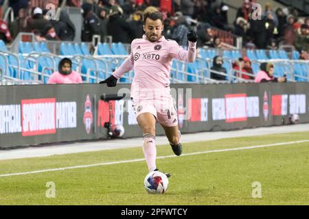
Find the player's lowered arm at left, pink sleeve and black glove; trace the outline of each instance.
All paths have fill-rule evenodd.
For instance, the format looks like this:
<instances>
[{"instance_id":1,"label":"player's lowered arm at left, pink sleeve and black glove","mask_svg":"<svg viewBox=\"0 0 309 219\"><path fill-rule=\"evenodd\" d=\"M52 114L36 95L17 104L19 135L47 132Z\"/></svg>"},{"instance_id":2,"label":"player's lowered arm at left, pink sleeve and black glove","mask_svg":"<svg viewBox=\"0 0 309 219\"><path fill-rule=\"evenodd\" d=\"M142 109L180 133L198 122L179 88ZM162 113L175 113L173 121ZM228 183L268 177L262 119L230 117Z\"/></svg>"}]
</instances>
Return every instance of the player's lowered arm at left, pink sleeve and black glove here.
<instances>
[{"instance_id":1,"label":"player's lowered arm at left, pink sleeve and black glove","mask_svg":"<svg viewBox=\"0 0 309 219\"><path fill-rule=\"evenodd\" d=\"M121 66L115 70L110 77L105 79L104 81L100 81L100 83L106 83L108 87L115 87L117 84L117 79L122 77L125 73L132 70L134 66L133 62L133 54L130 53L130 56L124 60Z\"/></svg>"}]
</instances>

